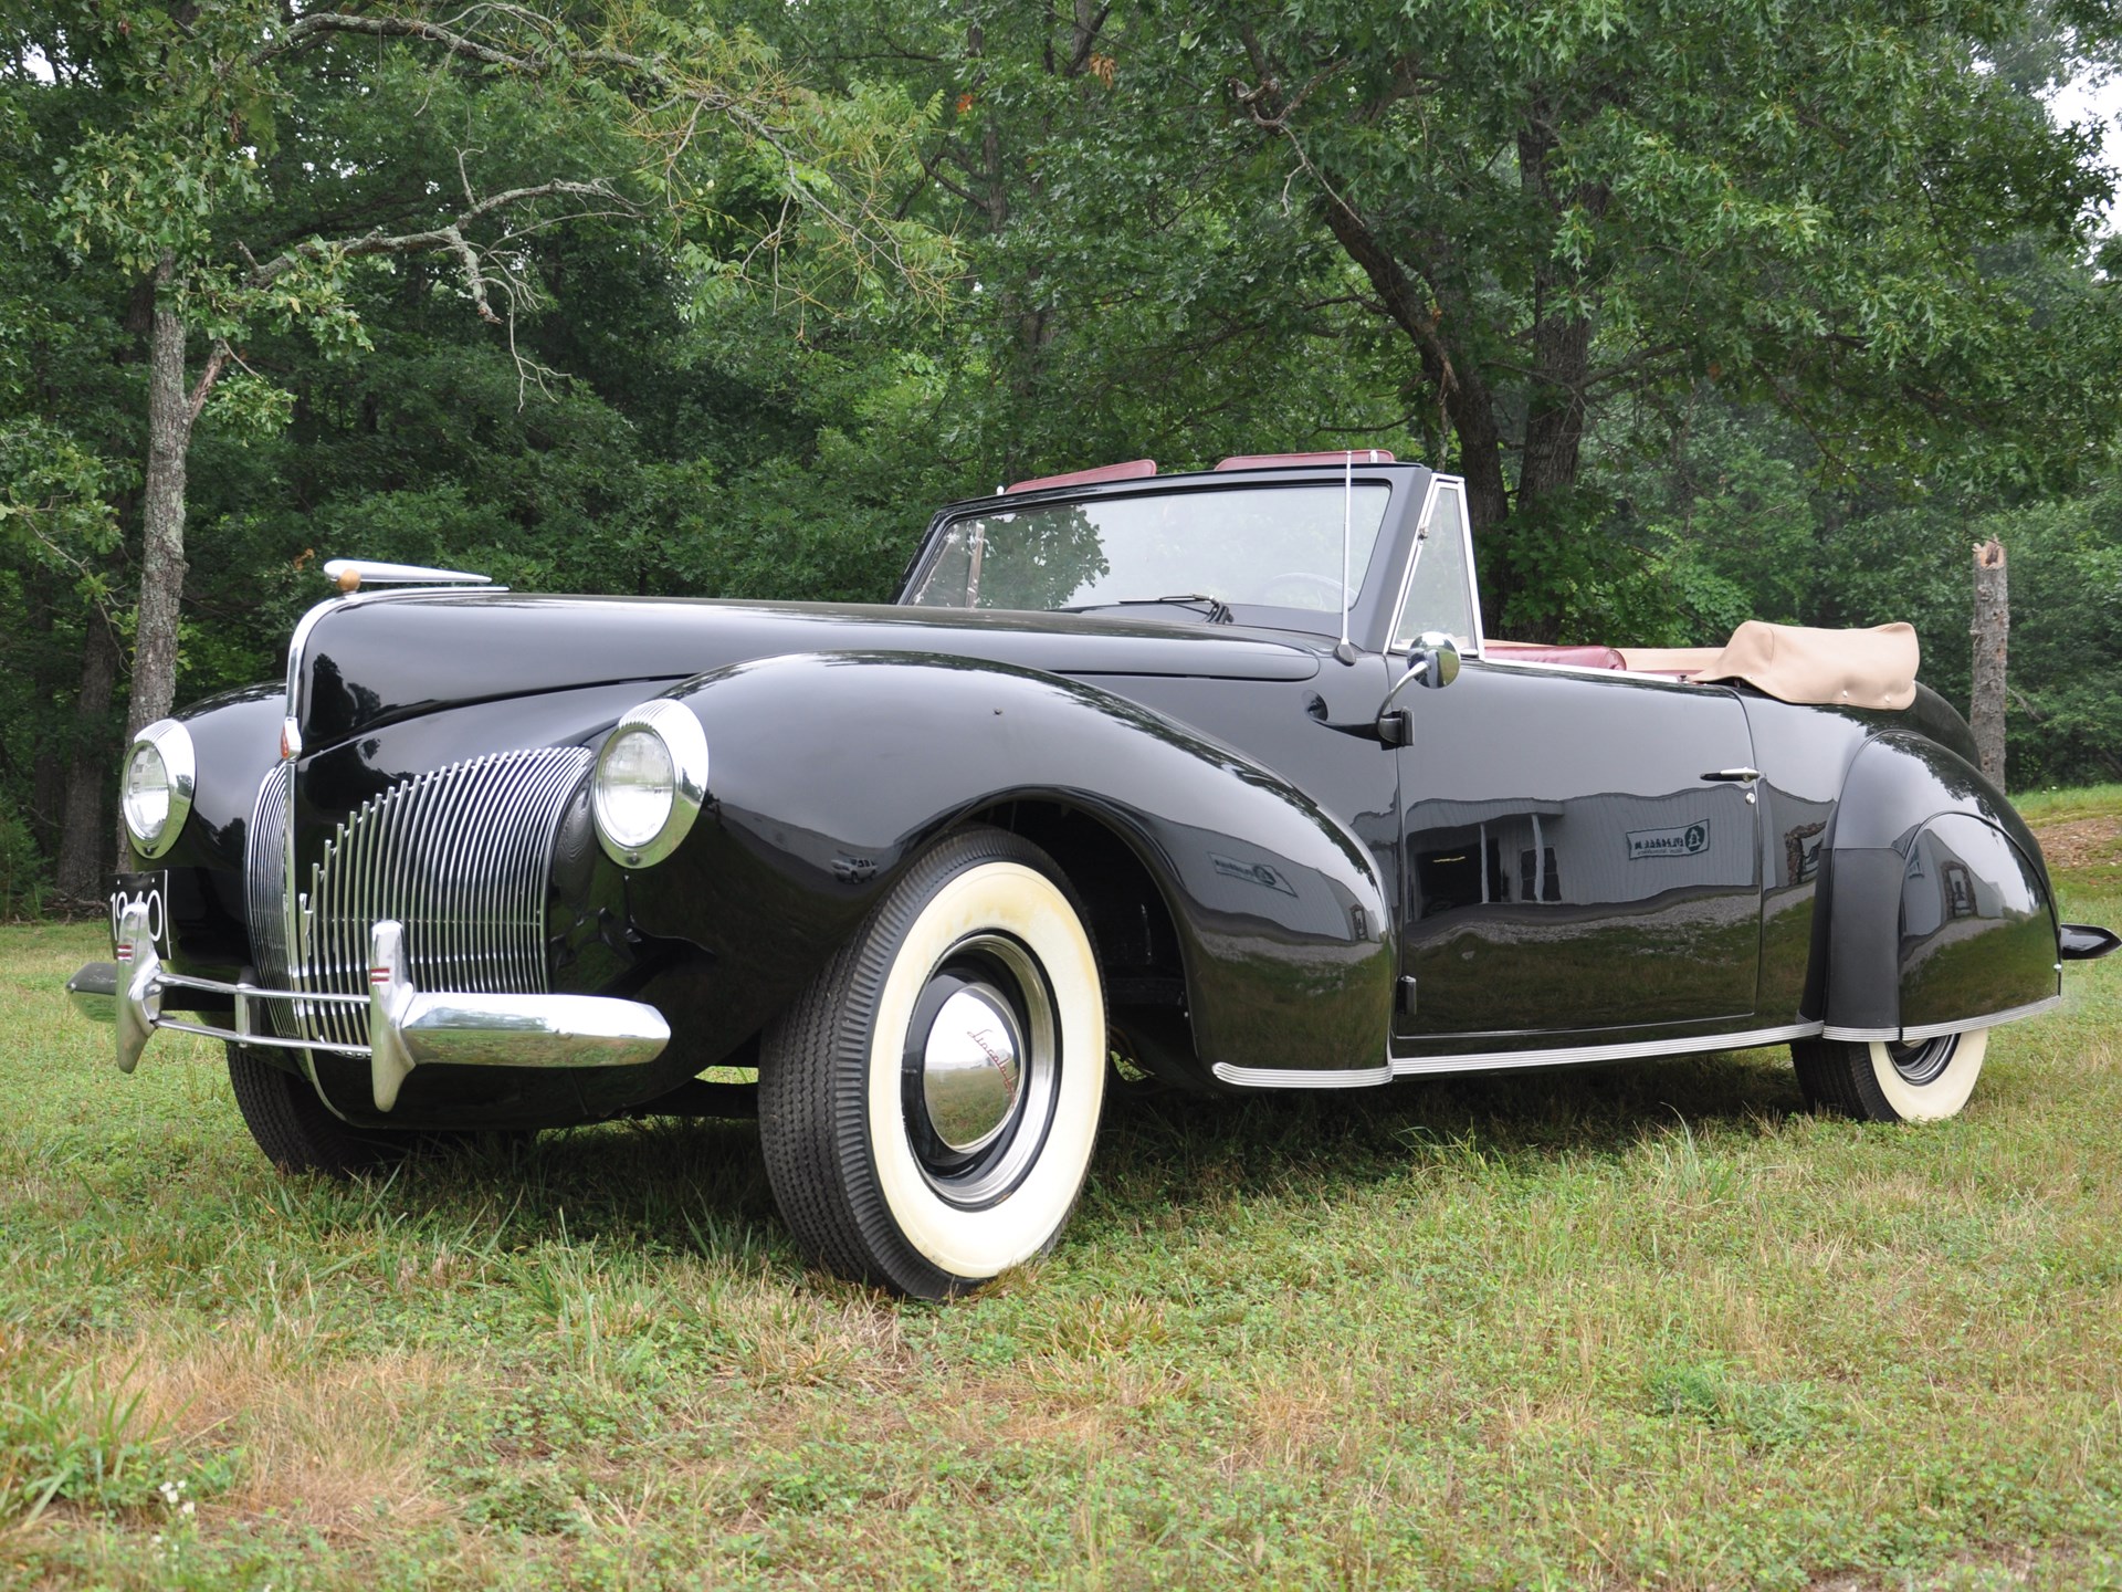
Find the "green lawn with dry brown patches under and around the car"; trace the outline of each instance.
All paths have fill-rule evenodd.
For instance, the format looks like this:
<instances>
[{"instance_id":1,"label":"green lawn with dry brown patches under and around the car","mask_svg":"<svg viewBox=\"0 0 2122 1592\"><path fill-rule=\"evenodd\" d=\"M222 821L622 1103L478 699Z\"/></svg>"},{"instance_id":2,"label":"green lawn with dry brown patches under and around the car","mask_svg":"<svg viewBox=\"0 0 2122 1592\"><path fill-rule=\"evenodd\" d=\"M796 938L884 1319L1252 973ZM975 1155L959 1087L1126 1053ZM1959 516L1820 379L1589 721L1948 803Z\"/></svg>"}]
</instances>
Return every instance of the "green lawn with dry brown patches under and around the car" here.
<instances>
[{"instance_id":1,"label":"green lawn with dry brown patches under and around the car","mask_svg":"<svg viewBox=\"0 0 2122 1592\"><path fill-rule=\"evenodd\" d=\"M1780 1051L1120 1100L929 1308L736 1123L278 1178L95 953L0 930L0 1586L2122 1588L2122 957L1920 1129Z\"/></svg>"}]
</instances>

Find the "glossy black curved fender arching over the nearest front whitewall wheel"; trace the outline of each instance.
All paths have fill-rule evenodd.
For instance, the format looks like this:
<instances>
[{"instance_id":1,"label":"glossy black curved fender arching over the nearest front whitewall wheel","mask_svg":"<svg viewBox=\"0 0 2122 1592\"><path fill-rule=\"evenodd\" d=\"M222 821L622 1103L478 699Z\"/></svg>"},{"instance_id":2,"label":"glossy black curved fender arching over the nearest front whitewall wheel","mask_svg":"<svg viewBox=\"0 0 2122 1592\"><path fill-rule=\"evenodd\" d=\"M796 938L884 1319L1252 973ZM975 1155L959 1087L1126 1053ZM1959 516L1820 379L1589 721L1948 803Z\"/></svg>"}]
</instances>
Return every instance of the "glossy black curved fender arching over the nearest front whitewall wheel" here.
<instances>
[{"instance_id":1,"label":"glossy black curved fender arching over the nearest front whitewall wheel","mask_svg":"<svg viewBox=\"0 0 2122 1592\"><path fill-rule=\"evenodd\" d=\"M1203 1061L1377 1063L1390 894L1341 821L1246 754L1097 686L944 656L783 656L671 696L707 732L709 800L628 900L641 932L709 953L673 1015L681 1042L734 1049L938 834L1038 800L1150 872Z\"/></svg>"}]
</instances>

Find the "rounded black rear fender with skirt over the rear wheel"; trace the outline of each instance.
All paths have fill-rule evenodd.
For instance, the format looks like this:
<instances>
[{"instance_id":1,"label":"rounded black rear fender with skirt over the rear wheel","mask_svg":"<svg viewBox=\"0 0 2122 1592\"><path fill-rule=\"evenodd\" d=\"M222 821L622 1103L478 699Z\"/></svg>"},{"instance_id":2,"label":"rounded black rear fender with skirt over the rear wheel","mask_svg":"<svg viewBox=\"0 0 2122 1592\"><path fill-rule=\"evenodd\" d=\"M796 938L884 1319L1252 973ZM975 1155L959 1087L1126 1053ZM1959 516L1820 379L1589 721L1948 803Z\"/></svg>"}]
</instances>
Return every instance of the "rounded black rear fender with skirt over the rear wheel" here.
<instances>
[{"instance_id":1,"label":"rounded black rear fender with skirt over the rear wheel","mask_svg":"<svg viewBox=\"0 0 2122 1592\"><path fill-rule=\"evenodd\" d=\"M1827 858L1829 1038L1925 1038L2058 993L2041 847L1959 754L1914 734L1867 741Z\"/></svg>"}]
</instances>

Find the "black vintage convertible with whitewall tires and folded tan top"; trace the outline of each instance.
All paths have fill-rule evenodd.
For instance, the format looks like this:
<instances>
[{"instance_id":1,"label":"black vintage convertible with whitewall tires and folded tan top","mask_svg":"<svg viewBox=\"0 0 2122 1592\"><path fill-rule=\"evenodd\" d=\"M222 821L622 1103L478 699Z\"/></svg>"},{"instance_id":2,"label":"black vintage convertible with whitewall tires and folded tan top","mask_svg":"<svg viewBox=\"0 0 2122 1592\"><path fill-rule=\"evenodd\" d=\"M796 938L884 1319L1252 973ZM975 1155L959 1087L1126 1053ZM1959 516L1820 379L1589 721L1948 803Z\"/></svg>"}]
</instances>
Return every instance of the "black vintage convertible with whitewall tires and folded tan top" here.
<instances>
[{"instance_id":1,"label":"black vintage convertible with whitewall tires and folded tan top","mask_svg":"<svg viewBox=\"0 0 2122 1592\"><path fill-rule=\"evenodd\" d=\"M1040 1254L1108 1068L1176 1089L1789 1044L1961 1108L2116 936L1918 686L1908 626L1483 637L1462 484L1148 461L942 509L893 605L520 596L327 565L284 686L149 726L132 1070L227 1042L259 1146L732 1112L817 1263ZM732 1112L734 1114L734 1112Z\"/></svg>"}]
</instances>

